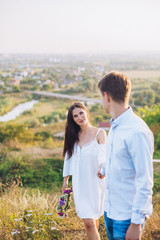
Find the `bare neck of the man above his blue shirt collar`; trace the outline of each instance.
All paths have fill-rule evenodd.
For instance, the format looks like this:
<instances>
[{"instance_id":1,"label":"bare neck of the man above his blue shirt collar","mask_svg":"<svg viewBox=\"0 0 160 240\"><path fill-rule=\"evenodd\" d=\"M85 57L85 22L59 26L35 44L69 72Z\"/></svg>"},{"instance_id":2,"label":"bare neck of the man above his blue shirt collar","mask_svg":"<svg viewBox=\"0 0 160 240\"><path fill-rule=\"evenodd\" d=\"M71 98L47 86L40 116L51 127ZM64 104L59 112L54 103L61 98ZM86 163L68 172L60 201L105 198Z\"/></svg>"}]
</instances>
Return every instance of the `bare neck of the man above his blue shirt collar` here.
<instances>
[{"instance_id":1,"label":"bare neck of the man above his blue shirt collar","mask_svg":"<svg viewBox=\"0 0 160 240\"><path fill-rule=\"evenodd\" d=\"M127 104L119 104L119 103L112 103L110 108L110 114L112 118L115 120L118 118L122 113L124 113L129 108L128 103Z\"/></svg>"}]
</instances>

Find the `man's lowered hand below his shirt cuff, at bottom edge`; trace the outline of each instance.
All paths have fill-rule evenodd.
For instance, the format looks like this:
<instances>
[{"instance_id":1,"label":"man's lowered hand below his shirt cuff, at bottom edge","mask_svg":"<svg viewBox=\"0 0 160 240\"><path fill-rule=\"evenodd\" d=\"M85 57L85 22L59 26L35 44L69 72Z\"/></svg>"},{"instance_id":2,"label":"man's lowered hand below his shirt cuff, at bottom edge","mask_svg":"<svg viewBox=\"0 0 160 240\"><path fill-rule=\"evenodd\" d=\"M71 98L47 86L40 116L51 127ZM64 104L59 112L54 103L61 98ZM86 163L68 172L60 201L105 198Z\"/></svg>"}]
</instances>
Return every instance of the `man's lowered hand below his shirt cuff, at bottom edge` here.
<instances>
[{"instance_id":1,"label":"man's lowered hand below his shirt cuff, at bottom edge","mask_svg":"<svg viewBox=\"0 0 160 240\"><path fill-rule=\"evenodd\" d=\"M141 239L141 224L131 223L126 235L125 240L140 240Z\"/></svg>"}]
</instances>

